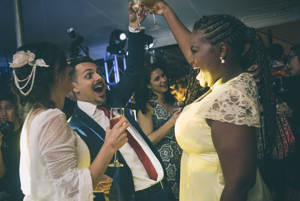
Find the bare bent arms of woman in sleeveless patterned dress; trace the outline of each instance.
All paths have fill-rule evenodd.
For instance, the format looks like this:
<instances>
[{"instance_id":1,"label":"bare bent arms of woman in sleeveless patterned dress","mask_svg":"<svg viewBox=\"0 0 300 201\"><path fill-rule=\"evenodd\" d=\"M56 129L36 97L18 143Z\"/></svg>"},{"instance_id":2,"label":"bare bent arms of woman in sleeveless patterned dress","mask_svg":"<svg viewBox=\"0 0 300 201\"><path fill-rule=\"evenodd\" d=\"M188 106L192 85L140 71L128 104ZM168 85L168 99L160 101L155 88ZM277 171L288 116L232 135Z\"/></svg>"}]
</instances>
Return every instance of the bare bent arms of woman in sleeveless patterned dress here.
<instances>
[{"instance_id":1,"label":"bare bent arms of woman in sleeveless patterned dress","mask_svg":"<svg viewBox=\"0 0 300 201\"><path fill-rule=\"evenodd\" d=\"M137 117L139 119L139 125L144 131L144 133L148 136L150 141L155 145L158 144L171 130L171 128L175 125L175 122L179 116L180 110L176 111L171 118L160 128L154 131L153 128L153 107L147 104L147 108L150 109L149 112L143 114L141 110L139 110Z\"/></svg>"}]
</instances>

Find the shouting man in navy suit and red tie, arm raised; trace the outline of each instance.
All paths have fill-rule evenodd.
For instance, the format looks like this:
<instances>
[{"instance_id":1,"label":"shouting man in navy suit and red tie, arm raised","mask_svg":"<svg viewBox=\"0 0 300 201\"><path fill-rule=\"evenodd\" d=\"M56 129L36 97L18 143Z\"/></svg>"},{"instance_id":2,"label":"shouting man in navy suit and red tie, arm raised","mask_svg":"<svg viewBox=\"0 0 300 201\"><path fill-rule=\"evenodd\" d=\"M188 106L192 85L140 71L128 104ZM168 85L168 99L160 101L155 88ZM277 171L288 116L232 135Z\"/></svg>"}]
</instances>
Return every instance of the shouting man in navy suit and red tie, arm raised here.
<instances>
[{"instance_id":1,"label":"shouting man in navy suit and red tie, arm raised","mask_svg":"<svg viewBox=\"0 0 300 201\"><path fill-rule=\"evenodd\" d=\"M101 71L88 57L73 60L71 73L77 103L69 124L87 144L91 162L101 149L107 126L110 125L111 107L123 107L131 97L143 73L144 30L135 32L135 13L129 5L129 37L127 68L119 83L110 91L105 89ZM145 10L140 8L141 18ZM143 133L140 126L125 109L125 117L131 123L127 129L128 143L118 151L118 160L124 167L108 167L105 174L113 178L106 200L175 200L167 185L167 172L161 156ZM113 161L113 159L112 159Z\"/></svg>"}]
</instances>

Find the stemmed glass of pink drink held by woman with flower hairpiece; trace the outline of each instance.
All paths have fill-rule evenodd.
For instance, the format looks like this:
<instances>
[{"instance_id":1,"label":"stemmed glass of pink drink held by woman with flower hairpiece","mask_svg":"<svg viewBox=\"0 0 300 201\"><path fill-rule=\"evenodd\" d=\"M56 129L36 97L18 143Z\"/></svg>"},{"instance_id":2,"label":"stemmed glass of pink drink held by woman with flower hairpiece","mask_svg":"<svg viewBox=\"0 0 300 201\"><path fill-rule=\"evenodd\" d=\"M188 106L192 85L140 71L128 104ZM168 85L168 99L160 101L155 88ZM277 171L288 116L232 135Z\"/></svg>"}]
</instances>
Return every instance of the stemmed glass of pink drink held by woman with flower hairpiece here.
<instances>
[{"instance_id":1,"label":"stemmed glass of pink drink held by woman with flower hairpiece","mask_svg":"<svg viewBox=\"0 0 300 201\"><path fill-rule=\"evenodd\" d=\"M122 118L124 118L124 108L112 107L110 109L110 129L113 128L116 123L118 123ZM114 162L109 164L110 167L123 167L124 165L118 162L117 152L115 153Z\"/></svg>"}]
</instances>

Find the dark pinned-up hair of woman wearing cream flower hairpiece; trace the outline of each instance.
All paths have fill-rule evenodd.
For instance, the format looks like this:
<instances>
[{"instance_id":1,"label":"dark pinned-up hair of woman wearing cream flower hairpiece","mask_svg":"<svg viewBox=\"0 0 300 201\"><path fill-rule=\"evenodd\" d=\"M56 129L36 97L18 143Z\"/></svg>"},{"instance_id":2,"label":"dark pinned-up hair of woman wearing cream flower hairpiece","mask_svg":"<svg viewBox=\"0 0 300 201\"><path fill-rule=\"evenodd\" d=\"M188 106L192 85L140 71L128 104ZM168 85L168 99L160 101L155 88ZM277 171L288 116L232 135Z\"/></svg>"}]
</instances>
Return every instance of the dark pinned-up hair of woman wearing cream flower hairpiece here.
<instances>
[{"instance_id":1,"label":"dark pinned-up hair of woman wearing cream flower hairpiece","mask_svg":"<svg viewBox=\"0 0 300 201\"><path fill-rule=\"evenodd\" d=\"M14 81L11 82L10 86L13 93L16 94L19 109L24 112L28 112L32 107L37 109L41 106L54 109L55 103L49 97L49 85L51 85L55 79L60 81L67 67L67 57L60 45L50 42L29 43L17 49L17 51L25 52L27 52L27 50L35 54L35 60L43 59L49 67L36 67L32 91L27 96L20 93ZM26 79L31 73L32 67L33 66L26 64L20 68L15 68L14 72L18 79ZM57 76L55 76L56 73ZM23 91L29 90L31 82L32 80ZM26 82L20 82L20 87L24 86L25 83Z\"/></svg>"}]
</instances>

